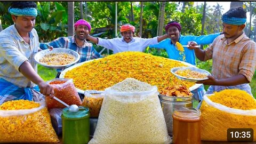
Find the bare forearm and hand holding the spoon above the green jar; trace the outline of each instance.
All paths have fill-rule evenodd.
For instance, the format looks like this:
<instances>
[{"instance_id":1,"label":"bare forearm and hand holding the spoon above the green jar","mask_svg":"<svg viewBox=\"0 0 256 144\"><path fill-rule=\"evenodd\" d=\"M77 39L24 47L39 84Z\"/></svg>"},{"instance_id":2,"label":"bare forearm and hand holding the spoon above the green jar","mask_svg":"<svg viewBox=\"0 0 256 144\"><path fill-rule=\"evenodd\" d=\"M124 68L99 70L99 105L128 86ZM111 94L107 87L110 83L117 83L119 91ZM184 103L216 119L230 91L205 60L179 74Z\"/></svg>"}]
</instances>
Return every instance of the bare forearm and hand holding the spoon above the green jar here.
<instances>
[{"instance_id":1,"label":"bare forearm and hand holding the spoon above the green jar","mask_svg":"<svg viewBox=\"0 0 256 144\"><path fill-rule=\"evenodd\" d=\"M50 84L44 82L44 80L36 73L28 61L25 61L20 65L19 71L30 81L37 84L39 86L40 92L43 95L54 95L53 87Z\"/></svg>"}]
</instances>

